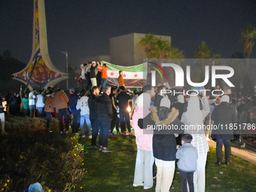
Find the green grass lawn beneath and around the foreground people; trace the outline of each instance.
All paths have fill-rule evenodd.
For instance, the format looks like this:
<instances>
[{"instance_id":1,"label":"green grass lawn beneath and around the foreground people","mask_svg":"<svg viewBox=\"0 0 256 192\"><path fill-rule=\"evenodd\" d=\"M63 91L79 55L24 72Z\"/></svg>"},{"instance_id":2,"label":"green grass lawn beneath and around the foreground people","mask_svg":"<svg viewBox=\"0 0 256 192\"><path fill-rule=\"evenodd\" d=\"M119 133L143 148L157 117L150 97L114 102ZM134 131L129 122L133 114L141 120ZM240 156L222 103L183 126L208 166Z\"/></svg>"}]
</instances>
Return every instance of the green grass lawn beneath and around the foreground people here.
<instances>
[{"instance_id":1,"label":"green grass lawn beneath and around the foreground people","mask_svg":"<svg viewBox=\"0 0 256 192\"><path fill-rule=\"evenodd\" d=\"M87 175L81 181L78 191L142 191L143 187L133 187L136 163L136 140L114 136L108 140L113 153L104 154L90 148L90 140L81 141L87 154L84 167ZM231 157L230 166L215 165L215 148L210 148L206 163L206 191L256 191L256 165ZM223 172L221 175L219 172ZM178 169L172 182L174 190L181 191ZM154 184L155 187L155 184ZM154 187L147 191L154 191Z\"/></svg>"}]
</instances>

